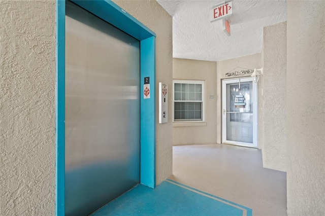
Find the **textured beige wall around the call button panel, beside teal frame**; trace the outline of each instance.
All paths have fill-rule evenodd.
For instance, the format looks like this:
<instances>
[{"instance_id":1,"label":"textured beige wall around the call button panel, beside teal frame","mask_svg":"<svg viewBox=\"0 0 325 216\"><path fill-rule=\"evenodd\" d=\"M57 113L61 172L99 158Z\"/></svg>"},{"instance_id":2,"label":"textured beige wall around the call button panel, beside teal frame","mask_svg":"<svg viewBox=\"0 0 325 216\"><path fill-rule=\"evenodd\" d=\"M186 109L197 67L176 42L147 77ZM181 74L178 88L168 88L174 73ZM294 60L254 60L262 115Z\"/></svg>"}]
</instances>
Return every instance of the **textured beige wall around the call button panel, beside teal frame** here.
<instances>
[{"instance_id":1,"label":"textured beige wall around the call button panel, beside teal frame","mask_svg":"<svg viewBox=\"0 0 325 216\"><path fill-rule=\"evenodd\" d=\"M158 83L168 85L168 97L173 98L173 42L172 42L172 17L156 1L114 1L127 13L134 16L157 35L156 37L156 90ZM158 123L158 97L156 95L156 183L159 184L172 174L173 149L172 149L172 115L168 123ZM168 111L171 114L173 106L169 99Z\"/></svg>"}]
</instances>

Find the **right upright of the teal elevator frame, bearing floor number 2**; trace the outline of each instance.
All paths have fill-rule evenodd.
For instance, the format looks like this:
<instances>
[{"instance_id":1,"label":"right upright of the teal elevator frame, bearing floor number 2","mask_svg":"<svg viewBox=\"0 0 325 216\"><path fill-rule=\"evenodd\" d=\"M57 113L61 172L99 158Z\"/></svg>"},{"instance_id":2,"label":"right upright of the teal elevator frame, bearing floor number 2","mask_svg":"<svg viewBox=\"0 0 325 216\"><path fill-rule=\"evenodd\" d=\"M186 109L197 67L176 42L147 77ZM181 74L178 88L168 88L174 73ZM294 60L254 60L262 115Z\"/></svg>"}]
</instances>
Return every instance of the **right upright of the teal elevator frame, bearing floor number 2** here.
<instances>
[{"instance_id":1,"label":"right upright of the teal elevator frame, bearing floor number 2","mask_svg":"<svg viewBox=\"0 0 325 216\"><path fill-rule=\"evenodd\" d=\"M150 188L156 186L155 142L156 142L156 60L155 37L140 42L141 71L141 132L140 132L140 183ZM150 98L144 99L144 78L150 77Z\"/></svg>"}]
</instances>

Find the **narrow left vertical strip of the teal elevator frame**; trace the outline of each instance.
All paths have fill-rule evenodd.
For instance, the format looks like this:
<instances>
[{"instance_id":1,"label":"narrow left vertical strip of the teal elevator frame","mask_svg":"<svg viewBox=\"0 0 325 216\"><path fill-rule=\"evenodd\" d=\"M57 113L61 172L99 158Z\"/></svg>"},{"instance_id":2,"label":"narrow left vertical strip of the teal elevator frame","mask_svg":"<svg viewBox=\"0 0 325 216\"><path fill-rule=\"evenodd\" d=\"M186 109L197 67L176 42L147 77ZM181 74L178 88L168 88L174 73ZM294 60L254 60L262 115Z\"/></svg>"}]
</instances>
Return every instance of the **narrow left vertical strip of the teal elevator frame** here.
<instances>
[{"instance_id":1,"label":"narrow left vertical strip of the teal elevator frame","mask_svg":"<svg viewBox=\"0 0 325 216\"><path fill-rule=\"evenodd\" d=\"M56 215L64 215L66 1L56 1Z\"/></svg>"}]
</instances>

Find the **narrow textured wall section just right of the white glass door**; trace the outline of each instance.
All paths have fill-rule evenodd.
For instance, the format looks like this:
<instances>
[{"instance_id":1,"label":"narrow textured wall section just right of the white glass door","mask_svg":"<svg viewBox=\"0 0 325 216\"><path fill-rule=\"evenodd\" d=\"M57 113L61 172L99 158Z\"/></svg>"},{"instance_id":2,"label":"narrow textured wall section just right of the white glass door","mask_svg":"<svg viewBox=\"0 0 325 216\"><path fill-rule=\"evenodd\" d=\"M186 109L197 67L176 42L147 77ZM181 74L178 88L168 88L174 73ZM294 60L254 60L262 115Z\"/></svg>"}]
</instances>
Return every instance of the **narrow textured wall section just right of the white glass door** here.
<instances>
[{"instance_id":1,"label":"narrow textured wall section just right of the white glass door","mask_svg":"<svg viewBox=\"0 0 325 216\"><path fill-rule=\"evenodd\" d=\"M286 170L286 22L264 27L263 167Z\"/></svg>"}]
</instances>

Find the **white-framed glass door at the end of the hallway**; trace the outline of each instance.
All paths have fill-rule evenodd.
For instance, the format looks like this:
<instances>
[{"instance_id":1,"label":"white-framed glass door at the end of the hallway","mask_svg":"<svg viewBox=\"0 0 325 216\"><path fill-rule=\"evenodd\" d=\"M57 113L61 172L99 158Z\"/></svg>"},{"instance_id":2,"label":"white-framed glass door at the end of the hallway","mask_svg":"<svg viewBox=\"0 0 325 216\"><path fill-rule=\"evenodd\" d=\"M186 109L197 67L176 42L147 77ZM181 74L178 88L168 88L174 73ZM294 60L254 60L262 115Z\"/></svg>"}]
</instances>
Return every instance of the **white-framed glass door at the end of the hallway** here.
<instances>
[{"instance_id":1,"label":"white-framed glass door at the end of the hallway","mask_svg":"<svg viewBox=\"0 0 325 216\"><path fill-rule=\"evenodd\" d=\"M250 77L222 81L222 143L257 148L257 85Z\"/></svg>"}]
</instances>

